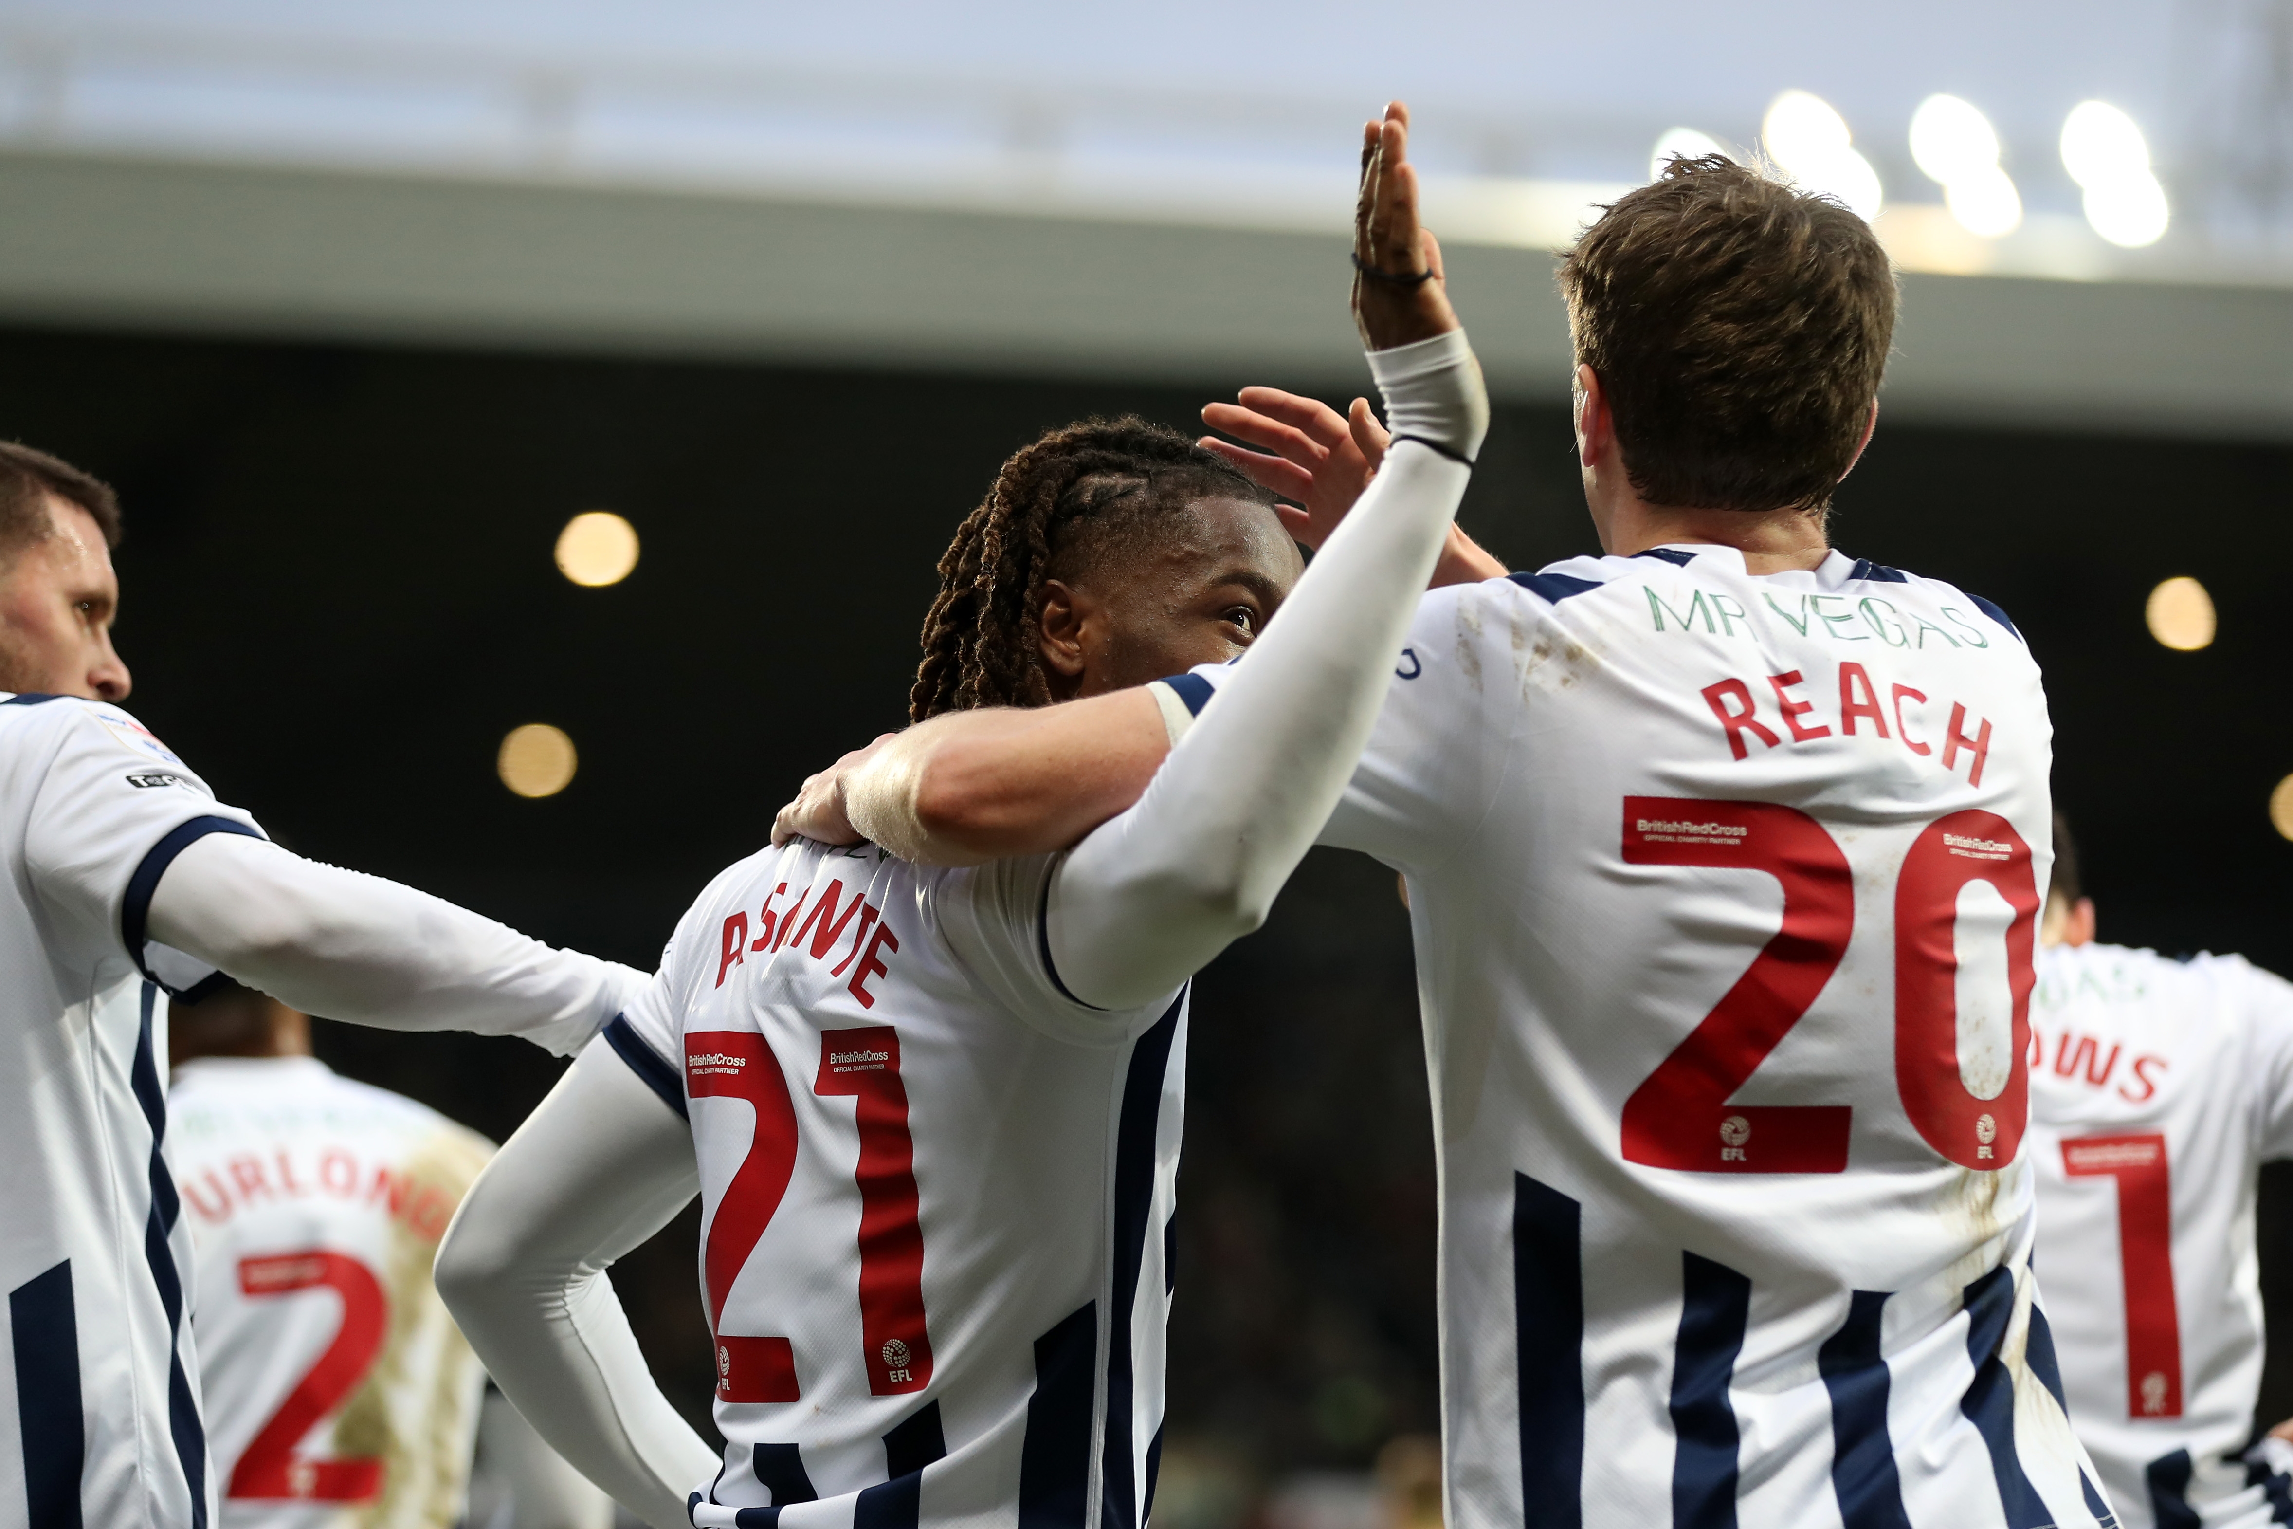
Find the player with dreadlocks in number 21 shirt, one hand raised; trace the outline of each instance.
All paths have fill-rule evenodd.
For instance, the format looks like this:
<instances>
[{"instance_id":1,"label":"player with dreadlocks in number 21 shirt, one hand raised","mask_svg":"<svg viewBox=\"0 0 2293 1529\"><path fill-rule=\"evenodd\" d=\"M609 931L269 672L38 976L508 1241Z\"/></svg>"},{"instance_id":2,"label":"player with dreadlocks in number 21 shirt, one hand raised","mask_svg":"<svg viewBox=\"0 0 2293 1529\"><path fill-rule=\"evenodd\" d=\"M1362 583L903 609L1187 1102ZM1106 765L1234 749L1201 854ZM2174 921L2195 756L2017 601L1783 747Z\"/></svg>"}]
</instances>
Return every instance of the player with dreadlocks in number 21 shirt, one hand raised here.
<instances>
[{"instance_id":1,"label":"player with dreadlocks in number 21 shirt, one hand raised","mask_svg":"<svg viewBox=\"0 0 2293 1529\"><path fill-rule=\"evenodd\" d=\"M1241 699L1071 853L924 869L786 839L731 867L463 1201L438 1256L463 1332L654 1522L1144 1522L1188 979L1266 917L1417 596L1470 555L1451 518L1488 403L1406 138L1399 108L1369 124L1355 236L1394 440L1314 569L1273 495L1183 436L1055 431L940 562L913 711L1025 727L1254 649ZM695 1190L722 1456L601 1277Z\"/></svg>"}]
</instances>

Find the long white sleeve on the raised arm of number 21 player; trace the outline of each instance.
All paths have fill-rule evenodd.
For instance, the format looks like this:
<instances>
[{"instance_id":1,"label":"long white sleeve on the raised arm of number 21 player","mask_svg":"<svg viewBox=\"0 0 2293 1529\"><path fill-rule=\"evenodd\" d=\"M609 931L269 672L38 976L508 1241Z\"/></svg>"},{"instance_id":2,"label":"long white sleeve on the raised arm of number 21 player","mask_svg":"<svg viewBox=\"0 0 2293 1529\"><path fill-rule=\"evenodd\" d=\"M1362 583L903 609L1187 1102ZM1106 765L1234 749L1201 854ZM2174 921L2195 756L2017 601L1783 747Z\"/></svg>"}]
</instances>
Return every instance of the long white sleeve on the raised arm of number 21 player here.
<instances>
[{"instance_id":1,"label":"long white sleeve on the raised arm of number 21 player","mask_svg":"<svg viewBox=\"0 0 2293 1529\"><path fill-rule=\"evenodd\" d=\"M1059 867L1052 965L1101 1009L1167 995L1266 922L1337 807L1488 429L1463 332L1371 353L1394 445L1140 802Z\"/></svg>"}]
</instances>

